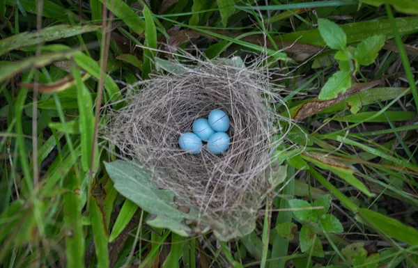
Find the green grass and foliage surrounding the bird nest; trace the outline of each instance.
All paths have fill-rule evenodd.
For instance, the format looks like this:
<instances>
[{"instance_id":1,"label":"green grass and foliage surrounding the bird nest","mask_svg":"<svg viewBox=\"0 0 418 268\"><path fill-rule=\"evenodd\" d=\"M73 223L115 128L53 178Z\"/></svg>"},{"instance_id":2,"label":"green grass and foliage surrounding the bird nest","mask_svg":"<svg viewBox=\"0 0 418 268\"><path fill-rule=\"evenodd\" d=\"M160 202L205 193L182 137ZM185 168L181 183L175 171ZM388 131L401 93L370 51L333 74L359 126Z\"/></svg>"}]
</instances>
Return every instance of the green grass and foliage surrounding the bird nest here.
<instances>
[{"instance_id":1,"label":"green grass and foliage surrounding the bird nest","mask_svg":"<svg viewBox=\"0 0 418 268\"><path fill-rule=\"evenodd\" d=\"M0 267L418 267L417 15L415 0L0 0ZM245 237L158 228L169 217L104 168L100 107L164 44L291 72L276 109L308 145L275 155L286 178Z\"/></svg>"}]
</instances>

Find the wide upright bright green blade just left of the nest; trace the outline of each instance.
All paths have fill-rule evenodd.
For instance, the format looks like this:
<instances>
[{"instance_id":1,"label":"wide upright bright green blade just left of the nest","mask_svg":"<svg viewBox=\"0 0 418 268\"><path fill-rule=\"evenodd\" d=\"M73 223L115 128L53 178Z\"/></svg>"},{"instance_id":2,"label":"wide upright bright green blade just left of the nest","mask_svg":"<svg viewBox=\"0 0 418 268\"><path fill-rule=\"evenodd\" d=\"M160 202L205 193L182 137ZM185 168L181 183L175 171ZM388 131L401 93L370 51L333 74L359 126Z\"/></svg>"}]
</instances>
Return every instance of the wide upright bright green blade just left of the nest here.
<instances>
[{"instance_id":1,"label":"wide upright bright green blade just left of the nest","mask_svg":"<svg viewBox=\"0 0 418 268\"><path fill-rule=\"evenodd\" d=\"M77 102L79 109L79 129L82 134L82 166L84 171L92 168L96 171L98 168L98 146L96 144L93 166L93 136L94 136L94 116L93 116L93 101L86 86L82 81L82 77L78 68L72 69L72 75L75 78L77 85Z\"/></svg>"}]
</instances>

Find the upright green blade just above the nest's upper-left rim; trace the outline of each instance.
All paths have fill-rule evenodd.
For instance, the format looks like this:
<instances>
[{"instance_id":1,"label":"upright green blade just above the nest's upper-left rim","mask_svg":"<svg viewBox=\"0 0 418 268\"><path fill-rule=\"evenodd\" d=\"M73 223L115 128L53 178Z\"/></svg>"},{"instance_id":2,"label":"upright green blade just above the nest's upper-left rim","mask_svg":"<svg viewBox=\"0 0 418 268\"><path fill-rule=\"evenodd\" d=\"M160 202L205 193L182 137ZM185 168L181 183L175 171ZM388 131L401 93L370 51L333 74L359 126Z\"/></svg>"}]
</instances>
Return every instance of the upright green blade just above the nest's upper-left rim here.
<instances>
[{"instance_id":1,"label":"upright green blade just above the nest's upper-left rim","mask_svg":"<svg viewBox=\"0 0 418 268\"><path fill-rule=\"evenodd\" d=\"M153 49L157 48L157 29L155 28L151 10L147 6L144 6L142 12L145 18L145 45L147 48L144 48L144 66L142 67L141 77L142 79L146 79L154 66L155 51Z\"/></svg>"}]
</instances>

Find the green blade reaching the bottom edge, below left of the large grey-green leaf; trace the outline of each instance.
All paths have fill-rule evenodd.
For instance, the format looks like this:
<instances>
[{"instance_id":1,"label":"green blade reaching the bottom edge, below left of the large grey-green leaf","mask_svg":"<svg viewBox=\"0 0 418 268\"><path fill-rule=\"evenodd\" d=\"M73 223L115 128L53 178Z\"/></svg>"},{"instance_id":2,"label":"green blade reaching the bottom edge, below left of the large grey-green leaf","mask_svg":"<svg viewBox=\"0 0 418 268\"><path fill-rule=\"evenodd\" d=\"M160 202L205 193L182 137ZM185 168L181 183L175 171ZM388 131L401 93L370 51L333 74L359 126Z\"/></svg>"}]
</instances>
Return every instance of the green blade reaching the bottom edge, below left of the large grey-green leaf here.
<instances>
[{"instance_id":1,"label":"green blade reaching the bottom edge, below left of the large grey-green leaf","mask_svg":"<svg viewBox=\"0 0 418 268\"><path fill-rule=\"evenodd\" d=\"M104 218L105 216L98 205L98 200L92 195L90 197L90 219L98 267L108 268L109 251L107 249L107 242L109 241L109 233L107 232Z\"/></svg>"}]
</instances>

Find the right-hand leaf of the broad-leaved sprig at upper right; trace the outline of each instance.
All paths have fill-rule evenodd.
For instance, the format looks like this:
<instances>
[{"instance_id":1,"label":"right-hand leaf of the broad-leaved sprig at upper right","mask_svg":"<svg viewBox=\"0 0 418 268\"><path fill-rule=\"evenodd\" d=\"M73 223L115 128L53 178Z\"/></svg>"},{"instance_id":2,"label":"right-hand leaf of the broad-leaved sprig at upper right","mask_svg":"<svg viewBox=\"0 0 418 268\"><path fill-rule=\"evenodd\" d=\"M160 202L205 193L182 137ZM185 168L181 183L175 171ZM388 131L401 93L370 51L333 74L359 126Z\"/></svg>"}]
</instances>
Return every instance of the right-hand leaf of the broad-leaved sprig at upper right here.
<instances>
[{"instance_id":1,"label":"right-hand leaf of the broad-leaved sprig at upper right","mask_svg":"<svg viewBox=\"0 0 418 268\"><path fill-rule=\"evenodd\" d=\"M363 40L355 48L355 59L360 65L371 65L378 57L378 52L385 45L385 36L372 36Z\"/></svg>"}]
</instances>

